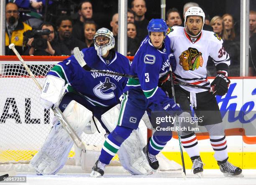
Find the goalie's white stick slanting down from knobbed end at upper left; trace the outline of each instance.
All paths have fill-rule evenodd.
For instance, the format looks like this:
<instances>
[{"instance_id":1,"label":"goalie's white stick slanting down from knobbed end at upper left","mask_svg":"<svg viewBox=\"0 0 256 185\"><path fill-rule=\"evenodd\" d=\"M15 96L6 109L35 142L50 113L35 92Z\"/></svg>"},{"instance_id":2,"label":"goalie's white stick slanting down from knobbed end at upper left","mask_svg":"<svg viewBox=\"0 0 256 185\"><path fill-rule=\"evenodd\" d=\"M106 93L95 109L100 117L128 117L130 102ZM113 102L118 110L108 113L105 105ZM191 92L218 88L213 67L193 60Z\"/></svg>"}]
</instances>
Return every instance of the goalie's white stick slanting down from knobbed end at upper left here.
<instances>
[{"instance_id":1,"label":"goalie's white stick slanting down from knobbed end at upper left","mask_svg":"<svg viewBox=\"0 0 256 185\"><path fill-rule=\"evenodd\" d=\"M15 55L18 57L18 59L20 60L20 62L22 63L22 65L25 67L26 71L28 72L29 76L33 79L33 81L35 82L35 84L38 86L38 88L40 89L40 91L42 90L41 85L39 84L39 82L36 80L35 76L33 75L33 73L31 72L30 68L28 68L27 64L25 63L25 61L23 60L23 58L21 58L20 54L18 53L18 51L15 49L15 45L13 43L11 43L9 45L9 48L13 50L13 52L15 53ZM74 132L74 129L70 126L70 124L67 122L67 119L64 117L64 115L62 114L61 110L59 109L59 107L56 107L55 109L51 108L51 110L54 112L54 114L56 115L56 117L59 119L59 121L61 122L62 127L64 127L64 129L66 129L66 131L68 132L68 134L70 135L70 137L72 138L72 140L74 141L74 143L77 145L78 148L84 150L84 152L86 151L86 147L84 145L84 143L81 141L81 139L78 137L78 135L76 134L76 132Z\"/></svg>"}]
</instances>

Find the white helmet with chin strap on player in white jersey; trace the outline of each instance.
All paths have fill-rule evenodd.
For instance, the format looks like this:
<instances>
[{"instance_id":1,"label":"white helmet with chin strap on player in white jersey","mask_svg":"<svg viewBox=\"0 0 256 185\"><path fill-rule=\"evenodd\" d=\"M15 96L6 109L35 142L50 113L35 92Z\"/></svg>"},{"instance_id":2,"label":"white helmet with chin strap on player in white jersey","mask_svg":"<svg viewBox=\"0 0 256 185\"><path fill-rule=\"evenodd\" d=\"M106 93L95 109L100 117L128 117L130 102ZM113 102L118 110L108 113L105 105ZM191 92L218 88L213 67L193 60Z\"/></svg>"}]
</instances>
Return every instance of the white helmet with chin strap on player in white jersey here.
<instances>
[{"instance_id":1,"label":"white helmet with chin strap on player in white jersey","mask_svg":"<svg viewBox=\"0 0 256 185\"><path fill-rule=\"evenodd\" d=\"M204 11L202 10L202 8L200 8L200 7L197 7L197 6L192 6L192 7L190 7L188 10L187 10L187 12L185 13L185 15L184 15L184 17L185 17L185 20L184 20L184 26L185 26L185 30L186 30L186 32L187 32L187 34L189 35L189 36L192 36L192 37L197 37L198 35L200 35L200 33L202 32L202 28L201 28L201 30L200 30L200 32L197 34L197 35L190 35L189 33L188 33L188 28L187 28L187 25L186 25L186 22L187 22L187 18L189 17L189 16L200 16L200 17L202 17L202 28L204 27L204 24L205 24L205 13L204 13Z\"/></svg>"}]
</instances>

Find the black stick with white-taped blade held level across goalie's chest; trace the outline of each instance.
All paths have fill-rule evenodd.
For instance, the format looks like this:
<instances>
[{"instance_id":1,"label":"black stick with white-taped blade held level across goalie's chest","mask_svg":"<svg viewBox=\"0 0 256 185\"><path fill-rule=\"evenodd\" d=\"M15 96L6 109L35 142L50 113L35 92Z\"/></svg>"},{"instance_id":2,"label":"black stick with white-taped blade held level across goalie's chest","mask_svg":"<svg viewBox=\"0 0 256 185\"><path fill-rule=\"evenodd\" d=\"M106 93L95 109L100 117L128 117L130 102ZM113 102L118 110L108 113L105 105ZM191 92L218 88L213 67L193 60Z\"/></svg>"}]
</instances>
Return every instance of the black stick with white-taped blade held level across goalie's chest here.
<instances>
[{"instance_id":1,"label":"black stick with white-taped blade held level across goalie's chest","mask_svg":"<svg viewBox=\"0 0 256 185\"><path fill-rule=\"evenodd\" d=\"M76 58L77 62L79 63L79 65L85 71L138 79L138 76L135 76L135 75L129 75L129 74L123 74L123 73L116 73L116 72L93 69L90 66L88 66L87 63L84 61L84 58L82 57L82 54L81 54L78 47L74 48L73 52L74 52L74 57ZM185 83L185 82L175 82L175 85L188 86L188 87L193 87L193 88L197 88L197 89L206 89L206 90L209 90L209 91L213 91L212 87L198 86L198 85L188 84L188 83Z\"/></svg>"}]
</instances>

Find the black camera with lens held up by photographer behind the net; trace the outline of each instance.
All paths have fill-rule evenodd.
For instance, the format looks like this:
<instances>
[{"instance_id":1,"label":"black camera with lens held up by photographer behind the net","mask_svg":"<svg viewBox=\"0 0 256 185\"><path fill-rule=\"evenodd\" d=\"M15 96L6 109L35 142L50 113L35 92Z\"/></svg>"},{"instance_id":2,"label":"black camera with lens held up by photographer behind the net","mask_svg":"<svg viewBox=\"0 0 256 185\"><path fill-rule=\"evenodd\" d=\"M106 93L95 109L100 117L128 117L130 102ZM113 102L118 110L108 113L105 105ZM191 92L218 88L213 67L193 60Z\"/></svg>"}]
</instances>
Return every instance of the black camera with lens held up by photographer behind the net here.
<instances>
[{"instance_id":1,"label":"black camera with lens held up by photographer behind the net","mask_svg":"<svg viewBox=\"0 0 256 185\"><path fill-rule=\"evenodd\" d=\"M45 50L47 48L47 40L41 38L42 35L50 35L51 31L49 29L44 30L28 30L23 33L24 42L27 43L29 38L34 38L31 46L35 48L35 50Z\"/></svg>"}]
</instances>

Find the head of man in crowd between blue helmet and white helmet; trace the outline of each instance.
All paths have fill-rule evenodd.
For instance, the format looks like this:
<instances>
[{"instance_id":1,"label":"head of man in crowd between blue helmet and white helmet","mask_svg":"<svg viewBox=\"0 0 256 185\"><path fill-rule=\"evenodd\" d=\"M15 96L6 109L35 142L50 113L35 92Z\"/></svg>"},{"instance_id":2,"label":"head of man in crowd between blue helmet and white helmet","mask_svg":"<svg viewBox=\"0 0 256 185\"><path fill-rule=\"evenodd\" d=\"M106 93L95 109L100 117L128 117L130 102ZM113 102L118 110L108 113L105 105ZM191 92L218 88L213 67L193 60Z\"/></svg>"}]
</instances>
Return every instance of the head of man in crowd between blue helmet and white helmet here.
<instances>
[{"instance_id":1,"label":"head of man in crowd between blue helmet and white helmet","mask_svg":"<svg viewBox=\"0 0 256 185\"><path fill-rule=\"evenodd\" d=\"M179 10L171 8L166 13L166 24L170 27L182 24Z\"/></svg>"}]
</instances>

